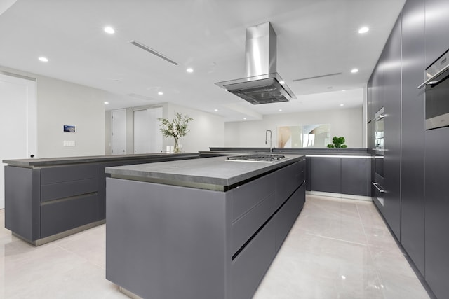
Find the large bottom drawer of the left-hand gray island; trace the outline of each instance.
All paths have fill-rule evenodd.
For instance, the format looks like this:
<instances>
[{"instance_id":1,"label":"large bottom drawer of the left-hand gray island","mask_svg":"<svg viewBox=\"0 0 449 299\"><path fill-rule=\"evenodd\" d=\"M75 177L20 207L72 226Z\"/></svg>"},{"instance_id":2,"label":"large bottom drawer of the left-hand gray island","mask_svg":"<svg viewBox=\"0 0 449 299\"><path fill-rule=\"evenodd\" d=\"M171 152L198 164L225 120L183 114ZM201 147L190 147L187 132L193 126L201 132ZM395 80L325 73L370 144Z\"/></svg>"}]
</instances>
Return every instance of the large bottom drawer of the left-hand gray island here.
<instances>
[{"instance_id":1,"label":"large bottom drawer of the left-hand gray island","mask_svg":"<svg viewBox=\"0 0 449 299\"><path fill-rule=\"evenodd\" d=\"M98 194L41 204L41 238L98 221Z\"/></svg>"}]
</instances>

